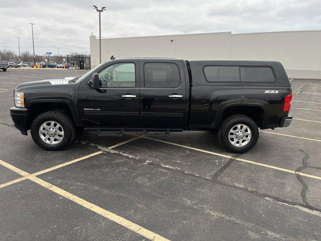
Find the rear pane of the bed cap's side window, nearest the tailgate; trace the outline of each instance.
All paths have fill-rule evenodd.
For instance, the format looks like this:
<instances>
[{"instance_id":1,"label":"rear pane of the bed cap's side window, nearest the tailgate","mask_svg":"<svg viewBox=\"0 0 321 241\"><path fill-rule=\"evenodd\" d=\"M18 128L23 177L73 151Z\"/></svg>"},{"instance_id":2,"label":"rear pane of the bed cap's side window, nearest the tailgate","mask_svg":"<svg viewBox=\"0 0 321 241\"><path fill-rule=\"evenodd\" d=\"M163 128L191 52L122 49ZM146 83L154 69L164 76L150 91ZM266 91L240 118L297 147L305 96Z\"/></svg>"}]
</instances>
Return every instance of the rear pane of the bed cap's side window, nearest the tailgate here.
<instances>
[{"instance_id":1,"label":"rear pane of the bed cap's side window, nearest the tailgate","mask_svg":"<svg viewBox=\"0 0 321 241\"><path fill-rule=\"evenodd\" d=\"M270 67L240 67L242 82L274 82L275 78Z\"/></svg>"}]
</instances>

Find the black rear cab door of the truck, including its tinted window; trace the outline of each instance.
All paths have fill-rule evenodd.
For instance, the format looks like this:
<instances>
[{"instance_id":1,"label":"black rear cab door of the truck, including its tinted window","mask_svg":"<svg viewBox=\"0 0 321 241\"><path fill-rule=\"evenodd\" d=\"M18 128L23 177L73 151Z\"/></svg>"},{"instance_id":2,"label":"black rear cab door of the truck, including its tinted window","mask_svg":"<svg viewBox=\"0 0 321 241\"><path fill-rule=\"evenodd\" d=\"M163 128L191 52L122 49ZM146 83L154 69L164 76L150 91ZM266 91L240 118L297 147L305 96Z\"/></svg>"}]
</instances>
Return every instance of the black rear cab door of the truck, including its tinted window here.
<instances>
[{"instance_id":1,"label":"black rear cab door of the truck, including its tinted window","mask_svg":"<svg viewBox=\"0 0 321 241\"><path fill-rule=\"evenodd\" d=\"M139 59L140 127L184 129L186 81L181 60Z\"/></svg>"}]
</instances>

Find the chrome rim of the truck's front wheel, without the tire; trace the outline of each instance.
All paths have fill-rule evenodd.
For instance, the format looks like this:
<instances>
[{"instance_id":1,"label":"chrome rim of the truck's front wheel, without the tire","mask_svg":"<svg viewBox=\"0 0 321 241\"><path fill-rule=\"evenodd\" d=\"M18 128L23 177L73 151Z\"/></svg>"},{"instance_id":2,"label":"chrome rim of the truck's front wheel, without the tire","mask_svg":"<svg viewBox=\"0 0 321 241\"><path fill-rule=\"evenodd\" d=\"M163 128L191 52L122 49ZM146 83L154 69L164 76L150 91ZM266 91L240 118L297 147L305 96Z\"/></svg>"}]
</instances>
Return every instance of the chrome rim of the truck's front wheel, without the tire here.
<instances>
[{"instance_id":1,"label":"chrome rim of the truck's front wheel, without the tire","mask_svg":"<svg viewBox=\"0 0 321 241\"><path fill-rule=\"evenodd\" d=\"M39 128L40 138L47 144L55 145L64 139L64 129L54 121L44 122Z\"/></svg>"}]
</instances>

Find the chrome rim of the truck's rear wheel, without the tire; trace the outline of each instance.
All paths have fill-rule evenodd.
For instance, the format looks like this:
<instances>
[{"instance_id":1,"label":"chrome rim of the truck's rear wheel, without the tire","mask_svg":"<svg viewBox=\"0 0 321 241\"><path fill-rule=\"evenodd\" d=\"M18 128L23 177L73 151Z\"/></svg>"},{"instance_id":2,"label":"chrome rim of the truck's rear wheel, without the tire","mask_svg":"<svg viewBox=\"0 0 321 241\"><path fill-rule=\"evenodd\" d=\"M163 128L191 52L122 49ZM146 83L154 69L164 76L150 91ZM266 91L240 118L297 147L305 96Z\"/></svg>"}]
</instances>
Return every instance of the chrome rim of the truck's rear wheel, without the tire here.
<instances>
[{"instance_id":1,"label":"chrome rim of the truck's rear wheel, without the tire","mask_svg":"<svg viewBox=\"0 0 321 241\"><path fill-rule=\"evenodd\" d=\"M229 141L233 146L244 147L251 140L251 130L244 124L235 125L229 131Z\"/></svg>"}]
</instances>

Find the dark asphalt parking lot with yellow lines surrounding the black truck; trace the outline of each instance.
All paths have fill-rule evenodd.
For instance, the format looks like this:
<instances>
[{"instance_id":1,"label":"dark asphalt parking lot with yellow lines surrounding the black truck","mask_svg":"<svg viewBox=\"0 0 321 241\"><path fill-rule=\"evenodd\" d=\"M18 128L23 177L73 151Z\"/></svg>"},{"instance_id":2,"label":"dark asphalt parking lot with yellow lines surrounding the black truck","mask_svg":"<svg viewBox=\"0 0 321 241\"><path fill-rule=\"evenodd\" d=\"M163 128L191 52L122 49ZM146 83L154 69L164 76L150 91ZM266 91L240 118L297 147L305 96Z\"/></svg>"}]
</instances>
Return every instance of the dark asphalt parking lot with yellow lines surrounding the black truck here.
<instances>
[{"instance_id":1,"label":"dark asphalt parking lot with yellow lines surrounding the black truck","mask_svg":"<svg viewBox=\"0 0 321 241\"><path fill-rule=\"evenodd\" d=\"M321 240L320 80L291 80L291 126L245 154L210 132L49 152L13 127L17 84L84 73L0 71L0 240Z\"/></svg>"}]
</instances>

